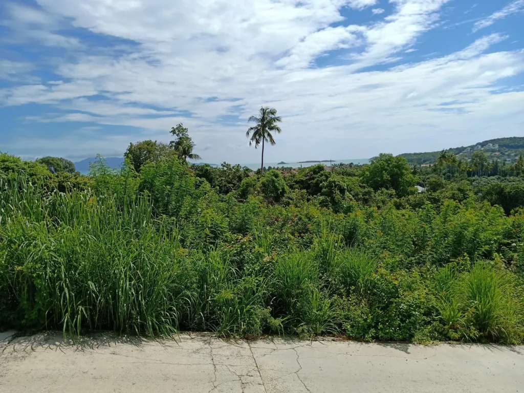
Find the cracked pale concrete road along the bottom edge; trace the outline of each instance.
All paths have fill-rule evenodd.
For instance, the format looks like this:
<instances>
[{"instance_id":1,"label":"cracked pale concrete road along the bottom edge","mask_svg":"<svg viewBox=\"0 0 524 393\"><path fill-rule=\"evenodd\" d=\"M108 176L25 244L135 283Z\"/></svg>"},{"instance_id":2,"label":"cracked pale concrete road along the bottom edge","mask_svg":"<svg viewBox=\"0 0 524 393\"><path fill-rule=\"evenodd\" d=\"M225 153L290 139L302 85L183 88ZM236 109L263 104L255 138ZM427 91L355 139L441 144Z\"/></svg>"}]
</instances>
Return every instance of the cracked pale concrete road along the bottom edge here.
<instances>
[{"instance_id":1,"label":"cracked pale concrete road along the bottom edge","mask_svg":"<svg viewBox=\"0 0 524 393\"><path fill-rule=\"evenodd\" d=\"M0 333L0 392L524 392L524 347Z\"/></svg>"}]
</instances>

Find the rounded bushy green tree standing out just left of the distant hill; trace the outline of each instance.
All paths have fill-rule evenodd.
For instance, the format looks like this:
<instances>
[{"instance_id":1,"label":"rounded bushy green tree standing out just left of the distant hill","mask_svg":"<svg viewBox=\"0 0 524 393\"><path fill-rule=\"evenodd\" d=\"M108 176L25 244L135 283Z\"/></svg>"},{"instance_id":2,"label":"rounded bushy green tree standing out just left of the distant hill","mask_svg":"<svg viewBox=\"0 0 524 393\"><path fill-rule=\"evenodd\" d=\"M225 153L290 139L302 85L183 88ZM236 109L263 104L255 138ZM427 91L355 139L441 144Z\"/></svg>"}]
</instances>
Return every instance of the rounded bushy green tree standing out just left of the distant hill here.
<instances>
[{"instance_id":1,"label":"rounded bushy green tree standing out just left of the distant hill","mask_svg":"<svg viewBox=\"0 0 524 393\"><path fill-rule=\"evenodd\" d=\"M375 191L381 188L395 190L397 195L405 196L415 192L416 178L411 174L408 161L391 154L380 154L363 169L362 180Z\"/></svg>"}]
</instances>

